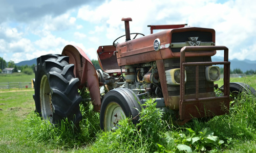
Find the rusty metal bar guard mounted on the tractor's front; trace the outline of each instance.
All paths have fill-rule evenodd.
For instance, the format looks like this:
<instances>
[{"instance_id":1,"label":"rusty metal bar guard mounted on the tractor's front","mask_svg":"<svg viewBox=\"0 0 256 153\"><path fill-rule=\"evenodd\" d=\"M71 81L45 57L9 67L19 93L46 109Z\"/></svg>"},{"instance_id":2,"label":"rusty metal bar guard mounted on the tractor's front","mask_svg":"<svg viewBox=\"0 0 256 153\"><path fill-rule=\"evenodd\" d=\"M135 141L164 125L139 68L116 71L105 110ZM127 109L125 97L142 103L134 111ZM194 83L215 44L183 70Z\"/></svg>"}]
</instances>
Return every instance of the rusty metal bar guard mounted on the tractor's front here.
<instances>
[{"instance_id":1,"label":"rusty metal bar guard mounted on the tractor's front","mask_svg":"<svg viewBox=\"0 0 256 153\"><path fill-rule=\"evenodd\" d=\"M224 50L224 62L185 62L185 52L187 51L210 51L210 50ZM208 98L198 98L199 94L199 65L224 65L224 95L220 97L208 97ZM196 98L185 99L185 66L196 66ZM191 117L203 117L198 111L209 109L212 115L222 115L229 109L229 72L230 72L230 62L228 62L228 48L226 46L185 46L181 48L180 52L180 119L189 119ZM215 102L215 103L213 103ZM222 110L224 104L225 110ZM192 107L195 107L192 108Z\"/></svg>"}]
</instances>

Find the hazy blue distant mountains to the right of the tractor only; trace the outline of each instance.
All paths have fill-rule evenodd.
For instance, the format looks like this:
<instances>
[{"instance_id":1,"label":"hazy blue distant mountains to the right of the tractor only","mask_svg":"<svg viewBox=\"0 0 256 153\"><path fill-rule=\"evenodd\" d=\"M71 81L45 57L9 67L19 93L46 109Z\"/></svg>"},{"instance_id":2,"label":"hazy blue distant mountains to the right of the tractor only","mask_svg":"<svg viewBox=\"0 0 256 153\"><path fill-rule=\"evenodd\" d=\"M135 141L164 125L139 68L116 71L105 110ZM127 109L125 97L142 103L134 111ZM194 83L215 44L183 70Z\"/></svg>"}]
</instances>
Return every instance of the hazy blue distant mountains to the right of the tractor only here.
<instances>
[{"instance_id":1,"label":"hazy blue distant mountains to the right of the tractor only","mask_svg":"<svg viewBox=\"0 0 256 153\"><path fill-rule=\"evenodd\" d=\"M218 61L223 61L223 57L216 57L212 56L211 57L212 62L218 62ZM247 70L256 70L256 61L250 61L250 60L243 60L240 61L238 59L233 59L229 60L230 61L230 69L233 70L235 68L241 69L243 72L246 72ZM219 65L219 67L223 67L223 65Z\"/></svg>"}]
</instances>

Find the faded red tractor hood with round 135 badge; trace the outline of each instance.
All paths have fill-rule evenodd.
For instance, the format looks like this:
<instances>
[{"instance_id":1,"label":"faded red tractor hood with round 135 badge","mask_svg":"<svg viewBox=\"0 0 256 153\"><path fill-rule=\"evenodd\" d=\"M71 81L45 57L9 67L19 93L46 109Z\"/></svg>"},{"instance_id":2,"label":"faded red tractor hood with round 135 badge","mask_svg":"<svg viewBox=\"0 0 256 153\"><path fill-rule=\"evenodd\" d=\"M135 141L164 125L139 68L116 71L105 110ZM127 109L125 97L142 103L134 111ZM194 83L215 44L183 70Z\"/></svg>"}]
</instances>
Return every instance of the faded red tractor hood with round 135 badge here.
<instances>
[{"instance_id":1,"label":"faded red tractor hood with round 135 badge","mask_svg":"<svg viewBox=\"0 0 256 153\"><path fill-rule=\"evenodd\" d=\"M215 30L186 27L170 29L117 44L119 66L180 57L184 46L214 46ZM213 56L216 50L190 52L191 56Z\"/></svg>"}]
</instances>

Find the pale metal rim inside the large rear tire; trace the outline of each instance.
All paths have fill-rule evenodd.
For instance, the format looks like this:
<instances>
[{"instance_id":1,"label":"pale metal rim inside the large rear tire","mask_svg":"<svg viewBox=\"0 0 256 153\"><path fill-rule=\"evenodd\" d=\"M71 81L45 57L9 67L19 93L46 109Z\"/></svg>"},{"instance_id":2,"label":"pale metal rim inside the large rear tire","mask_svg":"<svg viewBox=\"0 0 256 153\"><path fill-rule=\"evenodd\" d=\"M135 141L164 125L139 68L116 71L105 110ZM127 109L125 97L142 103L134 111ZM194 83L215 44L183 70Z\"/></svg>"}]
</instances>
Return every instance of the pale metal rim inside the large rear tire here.
<instances>
[{"instance_id":1,"label":"pale metal rim inside the large rear tire","mask_svg":"<svg viewBox=\"0 0 256 153\"><path fill-rule=\"evenodd\" d=\"M52 123L52 96L51 89L46 75L43 75L40 83L40 106L42 118Z\"/></svg>"}]
</instances>

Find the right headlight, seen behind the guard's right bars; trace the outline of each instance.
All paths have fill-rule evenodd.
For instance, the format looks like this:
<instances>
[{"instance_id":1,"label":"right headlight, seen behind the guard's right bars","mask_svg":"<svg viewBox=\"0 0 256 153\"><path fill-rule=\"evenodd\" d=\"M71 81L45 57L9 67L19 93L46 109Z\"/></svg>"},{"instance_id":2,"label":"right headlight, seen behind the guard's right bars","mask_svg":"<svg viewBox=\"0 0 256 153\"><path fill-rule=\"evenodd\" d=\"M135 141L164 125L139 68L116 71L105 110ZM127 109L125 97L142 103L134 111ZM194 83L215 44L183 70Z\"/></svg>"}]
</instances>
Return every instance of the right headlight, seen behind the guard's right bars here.
<instances>
[{"instance_id":1,"label":"right headlight, seen behind the guard's right bars","mask_svg":"<svg viewBox=\"0 0 256 153\"><path fill-rule=\"evenodd\" d=\"M207 66L205 69L205 77L209 82L220 80L220 68L218 66Z\"/></svg>"}]
</instances>

